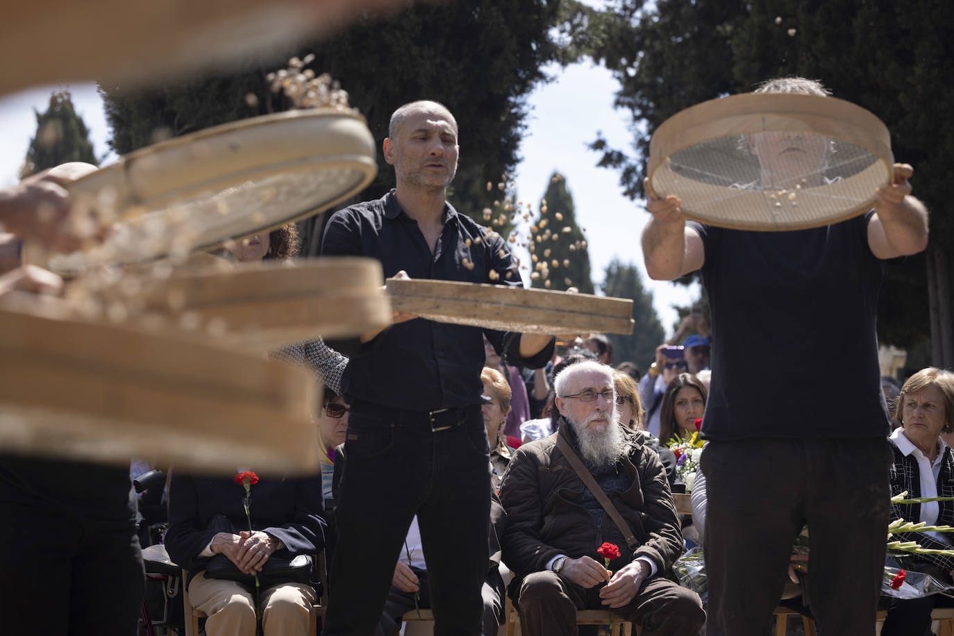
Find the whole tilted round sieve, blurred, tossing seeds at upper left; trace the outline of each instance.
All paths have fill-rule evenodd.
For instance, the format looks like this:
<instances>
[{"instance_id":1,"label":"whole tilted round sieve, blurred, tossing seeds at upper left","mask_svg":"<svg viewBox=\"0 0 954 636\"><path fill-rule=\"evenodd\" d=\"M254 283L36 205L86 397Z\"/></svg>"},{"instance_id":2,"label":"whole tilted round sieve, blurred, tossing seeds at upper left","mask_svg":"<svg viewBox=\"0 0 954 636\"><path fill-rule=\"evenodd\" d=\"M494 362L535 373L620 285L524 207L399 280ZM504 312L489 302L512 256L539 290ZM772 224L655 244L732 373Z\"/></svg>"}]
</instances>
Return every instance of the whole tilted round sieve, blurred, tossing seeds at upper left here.
<instances>
[{"instance_id":1,"label":"whole tilted round sieve, blurred, tossing seeds at upper left","mask_svg":"<svg viewBox=\"0 0 954 636\"><path fill-rule=\"evenodd\" d=\"M72 254L27 250L61 273L182 258L325 210L374 178L374 138L352 112L274 113L176 137L68 186L73 227L111 228ZM77 232L77 236L84 236Z\"/></svg>"}]
</instances>

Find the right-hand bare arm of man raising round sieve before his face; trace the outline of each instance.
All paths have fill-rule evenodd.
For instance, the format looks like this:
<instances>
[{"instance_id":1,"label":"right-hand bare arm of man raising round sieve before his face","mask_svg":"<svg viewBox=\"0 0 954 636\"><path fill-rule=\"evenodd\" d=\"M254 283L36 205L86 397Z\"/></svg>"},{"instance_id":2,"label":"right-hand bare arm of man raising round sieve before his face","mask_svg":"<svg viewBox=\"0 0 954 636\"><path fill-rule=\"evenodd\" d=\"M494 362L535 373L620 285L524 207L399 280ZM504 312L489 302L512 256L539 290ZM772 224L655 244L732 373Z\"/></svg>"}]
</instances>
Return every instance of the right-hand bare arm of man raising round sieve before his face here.
<instances>
[{"instance_id":1,"label":"right-hand bare arm of man raising round sieve before his face","mask_svg":"<svg viewBox=\"0 0 954 636\"><path fill-rule=\"evenodd\" d=\"M868 221L868 247L878 258L910 256L927 247L927 209L911 195L914 169L894 165L894 182L878 191L875 214Z\"/></svg>"}]
</instances>

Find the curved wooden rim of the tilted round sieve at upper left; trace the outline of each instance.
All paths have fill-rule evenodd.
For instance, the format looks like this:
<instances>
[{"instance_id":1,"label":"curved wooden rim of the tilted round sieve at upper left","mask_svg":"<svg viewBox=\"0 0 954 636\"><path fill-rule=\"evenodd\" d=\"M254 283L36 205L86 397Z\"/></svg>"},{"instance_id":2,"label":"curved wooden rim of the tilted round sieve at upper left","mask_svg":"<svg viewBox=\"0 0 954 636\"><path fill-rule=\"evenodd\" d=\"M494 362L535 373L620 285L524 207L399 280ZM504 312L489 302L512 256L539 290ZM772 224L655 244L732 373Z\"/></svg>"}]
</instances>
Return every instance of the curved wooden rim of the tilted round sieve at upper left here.
<instances>
[{"instance_id":1,"label":"curved wooden rim of the tilted round sieve at upper left","mask_svg":"<svg viewBox=\"0 0 954 636\"><path fill-rule=\"evenodd\" d=\"M249 180L304 168L344 168L361 174L346 190L316 205L290 209L286 217L268 222L247 215L245 223L228 236L206 236L192 251L215 249L230 238L267 232L327 210L357 194L377 174L375 141L360 114L336 109L304 109L241 119L174 137L123 155L105 168L82 176L67 186L77 205L93 205L101 193L115 197L117 222L156 211L177 200L218 192ZM165 214L165 213L159 213ZM55 257L36 246L27 259L54 271ZM168 256L144 255L142 262ZM130 261L123 261L130 262ZM115 263L120 264L120 263Z\"/></svg>"}]
</instances>

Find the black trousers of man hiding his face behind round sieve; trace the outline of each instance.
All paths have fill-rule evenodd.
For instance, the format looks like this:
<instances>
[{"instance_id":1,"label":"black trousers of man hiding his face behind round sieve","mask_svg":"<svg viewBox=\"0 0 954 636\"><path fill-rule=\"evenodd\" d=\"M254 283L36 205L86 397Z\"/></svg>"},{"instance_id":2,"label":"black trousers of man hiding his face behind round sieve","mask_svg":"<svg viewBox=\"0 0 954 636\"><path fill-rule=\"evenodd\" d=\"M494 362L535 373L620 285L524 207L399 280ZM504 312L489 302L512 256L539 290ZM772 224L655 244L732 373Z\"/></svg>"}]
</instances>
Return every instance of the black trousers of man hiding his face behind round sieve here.
<instances>
[{"instance_id":1,"label":"black trousers of man hiding his face behind round sieve","mask_svg":"<svg viewBox=\"0 0 954 636\"><path fill-rule=\"evenodd\" d=\"M711 441L702 454L709 636L764 636L808 523L819 631L871 636L890 512L883 439Z\"/></svg>"}]
</instances>

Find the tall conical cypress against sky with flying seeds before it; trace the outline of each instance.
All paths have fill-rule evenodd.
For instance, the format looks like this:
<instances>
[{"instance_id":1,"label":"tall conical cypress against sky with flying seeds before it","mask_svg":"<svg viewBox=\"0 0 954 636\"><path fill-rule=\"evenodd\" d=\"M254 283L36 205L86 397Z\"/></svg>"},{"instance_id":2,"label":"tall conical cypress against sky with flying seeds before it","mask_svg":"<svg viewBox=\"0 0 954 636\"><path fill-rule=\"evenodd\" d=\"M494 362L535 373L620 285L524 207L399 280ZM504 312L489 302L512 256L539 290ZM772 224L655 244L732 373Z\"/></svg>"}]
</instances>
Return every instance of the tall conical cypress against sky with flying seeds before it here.
<instances>
[{"instance_id":1,"label":"tall conical cypress against sky with flying seeds before it","mask_svg":"<svg viewBox=\"0 0 954 636\"><path fill-rule=\"evenodd\" d=\"M537 242L534 238L531 241L528 245L530 254L537 257L537 262L547 264L550 289L566 291L568 287L576 287L583 294L593 294L590 251L583 231L576 224L573 196L562 174L553 173L550 176L550 186L544 200L547 203L543 205L541 202L540 215L534 222L537 227L535 236L540 236L542 240ZM564 232L564 228L570 228L570 232ZM553 236L557 237L556 240L552 239ZM542 276L532 278L530 283L531 287L545 287Z\"/></svg>"}]
</instances>

